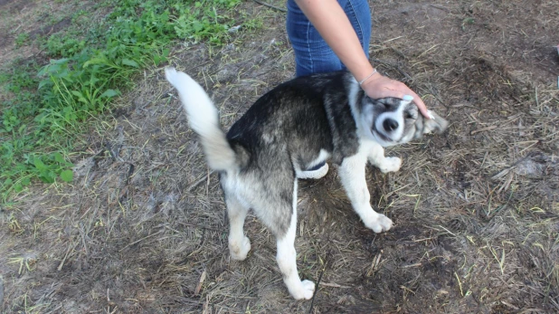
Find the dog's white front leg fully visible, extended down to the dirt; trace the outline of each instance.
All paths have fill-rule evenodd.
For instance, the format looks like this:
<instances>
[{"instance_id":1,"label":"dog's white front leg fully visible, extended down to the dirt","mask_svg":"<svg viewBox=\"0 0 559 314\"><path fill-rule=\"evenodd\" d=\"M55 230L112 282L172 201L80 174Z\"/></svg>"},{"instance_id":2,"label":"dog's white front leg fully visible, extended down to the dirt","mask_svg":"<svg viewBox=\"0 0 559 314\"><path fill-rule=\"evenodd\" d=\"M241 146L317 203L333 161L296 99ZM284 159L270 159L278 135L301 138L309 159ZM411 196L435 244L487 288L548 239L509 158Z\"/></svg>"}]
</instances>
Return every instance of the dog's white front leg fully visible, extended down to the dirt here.
<instances>
[{"instance_id":1,"label":"dog's white front leg fully visible, extended down to the dirt","mask_svg":"<svg viewBox=\"0 0 559 314\"><path fill-rule=\"evenodd\" d=\"M339 167L338 175L355 213L359 214L367 228L375 233L381 233L392 227L392 220L384 214L376 213L371 207L371 195L365 181L365 164L366 157L361 154L347 157Z\"/></svg>"}]
</instances>

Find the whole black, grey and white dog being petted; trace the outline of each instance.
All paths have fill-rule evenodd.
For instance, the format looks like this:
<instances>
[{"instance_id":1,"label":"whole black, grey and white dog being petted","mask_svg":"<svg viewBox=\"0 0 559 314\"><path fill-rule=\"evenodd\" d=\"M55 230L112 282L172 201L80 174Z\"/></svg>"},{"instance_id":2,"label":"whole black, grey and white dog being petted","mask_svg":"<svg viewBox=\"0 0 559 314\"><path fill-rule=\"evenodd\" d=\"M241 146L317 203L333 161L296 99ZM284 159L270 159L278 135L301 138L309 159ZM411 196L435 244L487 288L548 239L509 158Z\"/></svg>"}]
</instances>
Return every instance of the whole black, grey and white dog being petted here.
<instances>
[{"instance_id":1,"label":"whole black, grey and white dog being petted","mask_svg":"<svg viewBox=\"0 0 559 314\"><path fill-rule=\"evenodd\" d=\"M381 233L393 222L374 212L365 181L367 161L381 172L398 171L399 157L384 157L384 147L443 132L448 122L434 112L424 119L411 100L373 100L353 75L337 71L299 77L270 90L225 134L219 112L191 77L166 68L191 128L198 134L209 167L217 171L229 216L229 250L243 261L251 251L243 224L249 209L277 241L276 260L289 293L310 299L315 283L298 276L295 233L298 179L320 178L327 161L365 226Z\"/></svg>"}]
</instances>

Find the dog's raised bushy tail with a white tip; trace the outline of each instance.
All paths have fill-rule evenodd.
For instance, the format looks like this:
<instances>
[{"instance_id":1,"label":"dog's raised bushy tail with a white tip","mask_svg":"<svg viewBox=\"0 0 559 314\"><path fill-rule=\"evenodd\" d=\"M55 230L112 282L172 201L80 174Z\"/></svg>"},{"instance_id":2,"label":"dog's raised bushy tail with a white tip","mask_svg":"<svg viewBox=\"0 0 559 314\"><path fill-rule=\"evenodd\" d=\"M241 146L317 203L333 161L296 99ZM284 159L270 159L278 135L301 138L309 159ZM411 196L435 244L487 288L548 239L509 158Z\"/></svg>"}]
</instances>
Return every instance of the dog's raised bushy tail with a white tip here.
<instances>
[{"instance_id":1,"label":"dog's raised bushy tail with a white tip","mask_svg":"<svg viewBox=\"0 0 559 314\"><path fill-rule=\"evenodd\" d=\"M235 152L220 126L219 112L202 86L174 68L166 68L165 75L167 81L178 90L190 127L200 136L208 165L216 171L236 168Z\"/></svg>"}]
</instances>

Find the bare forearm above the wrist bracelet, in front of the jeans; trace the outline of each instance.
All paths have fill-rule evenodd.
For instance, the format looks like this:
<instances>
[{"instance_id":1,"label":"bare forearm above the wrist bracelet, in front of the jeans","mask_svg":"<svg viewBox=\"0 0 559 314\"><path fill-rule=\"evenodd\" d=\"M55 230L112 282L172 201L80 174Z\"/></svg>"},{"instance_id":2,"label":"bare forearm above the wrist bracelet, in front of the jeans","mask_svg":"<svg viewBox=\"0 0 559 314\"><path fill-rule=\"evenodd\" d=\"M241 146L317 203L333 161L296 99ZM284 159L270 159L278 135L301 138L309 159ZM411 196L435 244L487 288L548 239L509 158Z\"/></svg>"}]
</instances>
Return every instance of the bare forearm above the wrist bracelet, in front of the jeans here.
<instances>
[{"instance_id":1,"label":"bare forearm above the wrist bracelet, in front of the jeans","mask_svg":"<svg viewBox=\"0 0 559 314\"><path fill-rule=\"evenodd\" d=\"M373 71L344 10L336 0L295 0L310 23L357 81ZM368 49L368 47L365 47Z\"/></svg>"}]
</instances>

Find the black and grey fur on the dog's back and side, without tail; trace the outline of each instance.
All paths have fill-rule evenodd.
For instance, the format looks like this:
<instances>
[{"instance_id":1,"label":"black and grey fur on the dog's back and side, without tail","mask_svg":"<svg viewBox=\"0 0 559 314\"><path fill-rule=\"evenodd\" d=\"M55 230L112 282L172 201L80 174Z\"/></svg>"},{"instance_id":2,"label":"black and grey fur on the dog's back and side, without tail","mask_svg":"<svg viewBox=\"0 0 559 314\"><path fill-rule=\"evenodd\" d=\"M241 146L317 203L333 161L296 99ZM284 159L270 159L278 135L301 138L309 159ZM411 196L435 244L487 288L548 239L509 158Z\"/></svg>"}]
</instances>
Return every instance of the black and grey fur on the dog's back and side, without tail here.
<instances>
[{"instance_id":1,"label":"black and grey fur on the dog's back and side, without tail","mask_svg":"<svg viewBox=\"0 0 559 314\"><path fill-rule=\"evenodd\" d=\"M292 163L304 170L315 166L321 150L340 162L338 151L358 146L355 119L347 103L347 80L347 72L340 71L280 84L233 124L227 133L230 144L235 151L248 152L247 167L273 163L270 166L284 168L278 165L281 160L289 163L285 167L290 170Z\"/></svg>"}]
</instances>

